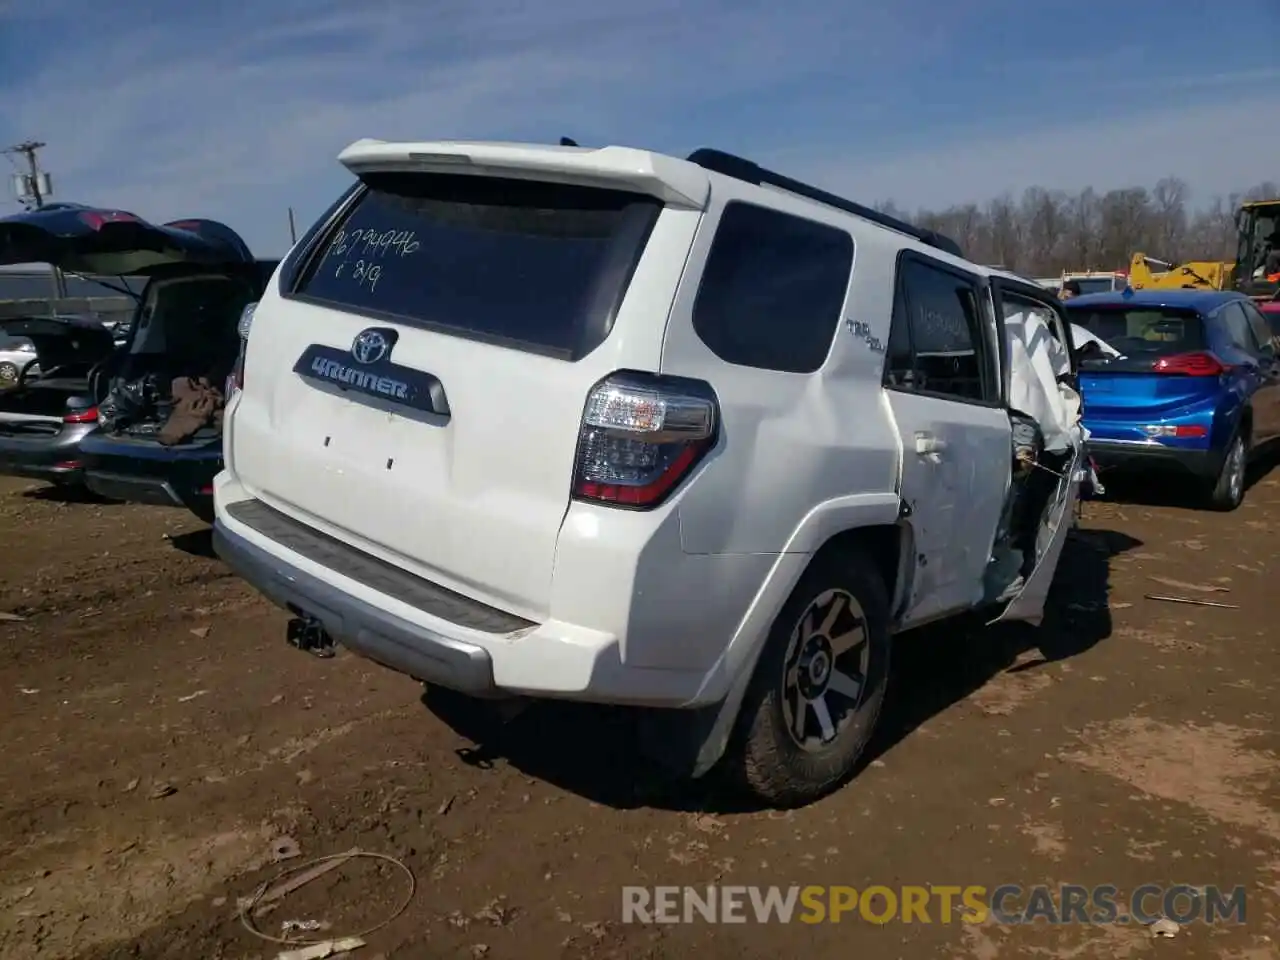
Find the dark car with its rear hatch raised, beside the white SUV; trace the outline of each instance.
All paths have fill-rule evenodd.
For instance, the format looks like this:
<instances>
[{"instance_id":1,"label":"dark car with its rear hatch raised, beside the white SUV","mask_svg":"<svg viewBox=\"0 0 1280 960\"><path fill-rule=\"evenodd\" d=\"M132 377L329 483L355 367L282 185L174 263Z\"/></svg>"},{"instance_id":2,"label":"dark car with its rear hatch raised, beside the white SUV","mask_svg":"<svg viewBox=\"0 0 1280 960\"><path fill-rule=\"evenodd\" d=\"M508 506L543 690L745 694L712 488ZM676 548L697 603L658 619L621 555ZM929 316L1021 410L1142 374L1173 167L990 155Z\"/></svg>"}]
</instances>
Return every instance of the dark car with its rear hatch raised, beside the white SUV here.
<instances>
[{"instance_id":1,"label":"dark car with its rear hatch raised, beside the white SUV","mask_svg":"<svg viewBox=\"0 0 1280 960\"><path fill-rule=\"evenodd\" d=\"M96 404L97 429L79 444L84 481L116 499L193 507L221 468L223 388L239 351L239 315L274 264L255 261L214 220L155 225L77 204L0 219L0 264L26 262L147 280L125 344L113 352L104 328L109 358L83 384L67 384L83 385ZM51 393L27 403L58 406Z\"/></svg>"}]
</instances>

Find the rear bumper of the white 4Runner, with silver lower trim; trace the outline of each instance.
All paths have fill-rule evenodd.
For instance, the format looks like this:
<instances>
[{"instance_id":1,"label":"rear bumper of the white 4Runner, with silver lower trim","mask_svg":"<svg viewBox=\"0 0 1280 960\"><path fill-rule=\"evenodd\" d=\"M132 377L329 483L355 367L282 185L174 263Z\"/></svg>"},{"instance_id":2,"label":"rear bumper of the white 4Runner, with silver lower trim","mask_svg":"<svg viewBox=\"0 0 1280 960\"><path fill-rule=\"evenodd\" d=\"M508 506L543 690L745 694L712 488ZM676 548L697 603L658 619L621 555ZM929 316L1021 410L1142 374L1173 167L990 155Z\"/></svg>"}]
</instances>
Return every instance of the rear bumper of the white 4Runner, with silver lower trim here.
<instances>
[{"instance_id":1,"label":"rear bumper of the white 4Runner, with silver lower trim","mask_svg":"<svg viewBox=\"0 0 1280 960\"><path fill-rule=\"evenodd\" d=\"M716 700L705 671L627 666L612 634L532 623L445 590L246 499L225 472L215 489L218 556L276 605L314 617L390 669L474 696L668 708Z\"/></svg>"}]
</instances>

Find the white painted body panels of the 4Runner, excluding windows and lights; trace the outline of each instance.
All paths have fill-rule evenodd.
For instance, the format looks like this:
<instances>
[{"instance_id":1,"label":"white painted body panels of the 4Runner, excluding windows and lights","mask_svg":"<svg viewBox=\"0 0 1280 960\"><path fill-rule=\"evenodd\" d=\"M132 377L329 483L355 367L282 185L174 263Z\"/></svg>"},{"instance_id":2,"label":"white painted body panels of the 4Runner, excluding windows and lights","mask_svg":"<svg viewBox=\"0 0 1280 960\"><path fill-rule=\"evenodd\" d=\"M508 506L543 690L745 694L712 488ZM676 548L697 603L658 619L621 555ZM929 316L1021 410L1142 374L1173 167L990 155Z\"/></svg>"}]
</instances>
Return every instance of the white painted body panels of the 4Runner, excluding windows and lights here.
<instances>
[{"instance_id":1,"label":"white painted body panels of the 4Runner, excluding windows and lights","mask_svg":"<svg viewBox=\"0 0 1280 960\"><path fill-rule=\"evenodd\" d=\"M512 694L660 707L724 700L742 689L814 552L846 530L900 529L913 562L900 577L896 627L979 602L1010 481L1007 413L886 390L883 351L851 325L888 342L904 250L979 278L997 271L841 210L645 151L361 141L342 160L356 173L439 170L456 169L447 163L456 154L471 159L476 175L626 187L666 202L612 333L564 362L397 328L397 362L447 385L452 417L442 428L297 376L292 367L308 344L347 349L372 321L285 300L271 283L253 316L246 388L227 411L219 525L334 591L458 650L483 650L498 691ZM727 364L694 333L700 269L731 200L831 224L854 239L842 321L814 374ZM995 342L993 320L988 333ZM717 447L648 512L570 497L584 401L617 370L698 378L719 399ZM238 522L228 508L250 499L535 626L486 634L379 594ZM904 500L913 504L906 518ZM1060 520L1073 500L1074 488ZM1029 584L1009 616L1039 617L1052 553L1042 582Z\"/></svg>"}]
</instances>

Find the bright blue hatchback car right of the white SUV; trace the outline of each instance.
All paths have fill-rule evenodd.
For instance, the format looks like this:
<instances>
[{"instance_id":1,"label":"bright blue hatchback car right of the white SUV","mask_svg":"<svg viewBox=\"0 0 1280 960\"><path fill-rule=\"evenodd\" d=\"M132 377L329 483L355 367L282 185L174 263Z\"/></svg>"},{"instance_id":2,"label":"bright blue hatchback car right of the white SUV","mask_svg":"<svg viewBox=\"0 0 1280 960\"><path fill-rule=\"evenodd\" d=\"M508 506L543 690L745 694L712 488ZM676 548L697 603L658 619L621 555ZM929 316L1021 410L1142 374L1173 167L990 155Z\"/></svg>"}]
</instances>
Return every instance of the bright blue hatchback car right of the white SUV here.
<instances>
[{"instance_id":1,"label":"bright blue hatchback car right of the white SUV","mask_svg":"<svg viewBox=\"0 0 1280 960\"><path fill-rule=\"evenodd\" d=\"M1280 436L1280 358L1253 301L1126 289L1065 306L1100 470L1172 468L1201 481L1210 507L1235 509L1251 454Z\"/></svg>"}]
</instances>

